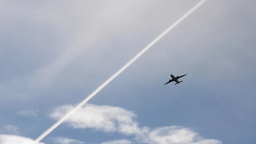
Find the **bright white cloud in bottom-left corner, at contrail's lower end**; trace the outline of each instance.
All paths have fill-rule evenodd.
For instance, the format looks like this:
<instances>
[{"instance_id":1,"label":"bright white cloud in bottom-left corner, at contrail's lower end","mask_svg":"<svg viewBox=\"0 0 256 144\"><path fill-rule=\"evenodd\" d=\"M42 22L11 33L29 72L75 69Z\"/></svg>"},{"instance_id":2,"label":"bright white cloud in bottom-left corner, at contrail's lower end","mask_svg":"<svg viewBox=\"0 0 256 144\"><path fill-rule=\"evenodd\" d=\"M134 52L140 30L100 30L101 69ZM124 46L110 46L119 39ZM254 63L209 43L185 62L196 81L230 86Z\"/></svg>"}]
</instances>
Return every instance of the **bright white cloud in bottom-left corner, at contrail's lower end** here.
<instances>
[{"instance_id":1,"label":"bright white cloud in bottom-left corner, at contrail's lower end","mask_svg":"<svg viewBox=\"0 0 256 144\"><path fill-rule=\"evenodd\" d=\"M43 144L42 142L36 142L32 139L19 137L17 135L4 135L0 134L1 144Z\"/></svg>"}]
</instances>

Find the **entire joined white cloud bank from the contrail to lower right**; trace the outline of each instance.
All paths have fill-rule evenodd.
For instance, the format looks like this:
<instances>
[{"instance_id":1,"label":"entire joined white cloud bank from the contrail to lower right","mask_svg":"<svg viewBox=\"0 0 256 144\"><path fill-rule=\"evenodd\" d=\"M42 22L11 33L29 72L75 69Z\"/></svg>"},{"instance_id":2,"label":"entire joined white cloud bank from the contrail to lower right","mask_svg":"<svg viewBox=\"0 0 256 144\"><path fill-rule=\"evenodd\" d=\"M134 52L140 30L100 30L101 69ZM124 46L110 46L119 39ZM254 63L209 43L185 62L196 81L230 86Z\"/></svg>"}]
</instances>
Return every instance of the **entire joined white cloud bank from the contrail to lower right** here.
<instances>
[{"instance_id":1,"label":"entire joined white cloud bank from the contrail to lower right","mask_svg":"<svg viewBox=\"0 0 256 144\"><path fill-rule=\"evenodd\" d=\"M51 118L59 119L73 109L73 106L66 105L54 109ZM76 111L72 117L65 122L74 129L91 128L98 131L120 133L124 136L132 136L137 143L197 143L197 144L220 144L221 141L214 139L205 139L197 132L182 126L165 126L150 129L147 126L139 126L135 121L136 115L120 107L97 106L87 104ZM109 143L122 143L122 141L109 141ZM131 143L130 140L124 140L123 143ZM104 142L103 142L104 143ZM107 143L107 142L105 142Z\"/></svg>"}]
</instances>

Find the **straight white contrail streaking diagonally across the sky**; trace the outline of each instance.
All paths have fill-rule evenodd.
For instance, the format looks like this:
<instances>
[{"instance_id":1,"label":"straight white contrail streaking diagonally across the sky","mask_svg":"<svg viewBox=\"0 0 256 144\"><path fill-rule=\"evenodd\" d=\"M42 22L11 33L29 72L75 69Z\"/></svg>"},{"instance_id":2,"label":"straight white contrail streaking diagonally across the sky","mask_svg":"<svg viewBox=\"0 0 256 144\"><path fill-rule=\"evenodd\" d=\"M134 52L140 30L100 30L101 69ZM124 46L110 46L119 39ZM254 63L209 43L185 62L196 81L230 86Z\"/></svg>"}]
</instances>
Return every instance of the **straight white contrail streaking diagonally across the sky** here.
<instances>
[{"instance_id":1,"label":"straight white contrail streaking diagonally across the sky","mask_svg":"<svg viewBox=\"0 0 256 144\"><path fill-rule=\"evenodd\" d=\"M106 85L108 85L113 79L115 79L119 74L121 74L127 67L129 67L135 60L137 60L143 53L145 53L151 46L153 46L156 42L158 42L164 35L166 35L170 30L172 30L174 27L176 27L181 21L183 21L185 18L188 17L191 13L193 13L198 7L200 7L204 2L207 0L202 0L199 3L197 3L191 10L189 10L187 13L185 13L181 18L179 18L177 21L175 21L169 28L164 30L162 34L157 36L152 42L150 42L144 49L142 49L138 54L135 55L130 61L128 61L121 69L119 69L114 75L109 77L107 81L105 81L103 84L101 84L96 90L94 90L91 94L87 96L86 99L84 99L82 102L78 103L78 105L69 113L67 113L65 116L63 116L59 121L54 123L49 129L47 129L45 132L43 132L35 141L39 142L41 141L46 135L51 133L54 129L56 129L61 123L63 123L70 115L72 115L77 109L81 108L87 101L89 101L92 97L94 97L95 94L100 92Z\"/></svg>"}]
</instances>

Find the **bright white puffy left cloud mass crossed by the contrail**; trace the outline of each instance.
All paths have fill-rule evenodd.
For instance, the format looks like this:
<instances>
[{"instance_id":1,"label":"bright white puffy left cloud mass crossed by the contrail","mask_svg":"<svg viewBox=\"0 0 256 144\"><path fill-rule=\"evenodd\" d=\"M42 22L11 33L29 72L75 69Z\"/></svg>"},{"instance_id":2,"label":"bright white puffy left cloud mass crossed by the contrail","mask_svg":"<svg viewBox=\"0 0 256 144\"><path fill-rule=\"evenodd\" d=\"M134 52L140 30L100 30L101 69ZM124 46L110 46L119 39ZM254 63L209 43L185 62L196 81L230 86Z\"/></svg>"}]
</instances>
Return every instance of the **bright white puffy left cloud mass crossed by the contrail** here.
<instances>
[{"instance_id":1,"label":"bright white puffy left cloud mass crossed by the contrail","mask_svg":"<svg viewBox=\"0 0 256 144\"><path fill-rule=\"evenodd\" d=\"M62 106L53 111L51 117L59 119L73 109L73 106ZM93 128L105 132L121 132L123 134L139 133L138 124L132 111L119 107L85 105L76 111L65 122L75 129Z\"/></svg>"}]
</instances>

